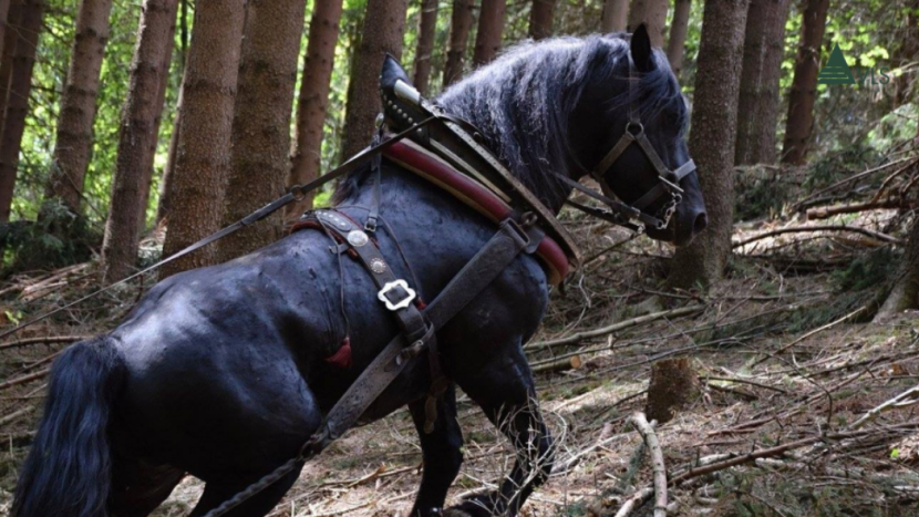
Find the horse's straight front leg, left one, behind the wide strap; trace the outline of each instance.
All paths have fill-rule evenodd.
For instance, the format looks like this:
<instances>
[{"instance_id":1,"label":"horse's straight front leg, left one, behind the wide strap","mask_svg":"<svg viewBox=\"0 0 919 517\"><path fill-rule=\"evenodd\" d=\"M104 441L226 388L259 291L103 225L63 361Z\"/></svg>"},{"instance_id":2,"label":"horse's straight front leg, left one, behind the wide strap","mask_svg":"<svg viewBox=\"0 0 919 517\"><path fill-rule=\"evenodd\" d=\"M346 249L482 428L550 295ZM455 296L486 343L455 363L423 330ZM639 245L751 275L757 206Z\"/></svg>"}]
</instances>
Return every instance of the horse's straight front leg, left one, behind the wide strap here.
<instances>
[{"instance_id":1,"label":"horse's straight front leg, left one, behind the wide strap","mask_svg":"<svg viewBox=\"0 0 919 517\"><path fill-rule=\"evenodd\" d=\"M425 400L422 397L409 404L424 461L421 488L411 517L442 515L446 493L463 464L463 433L456 422L456 389L451 384L437 400L437 420L431 433L424 432Z\"/></svg>"}]
</instances>

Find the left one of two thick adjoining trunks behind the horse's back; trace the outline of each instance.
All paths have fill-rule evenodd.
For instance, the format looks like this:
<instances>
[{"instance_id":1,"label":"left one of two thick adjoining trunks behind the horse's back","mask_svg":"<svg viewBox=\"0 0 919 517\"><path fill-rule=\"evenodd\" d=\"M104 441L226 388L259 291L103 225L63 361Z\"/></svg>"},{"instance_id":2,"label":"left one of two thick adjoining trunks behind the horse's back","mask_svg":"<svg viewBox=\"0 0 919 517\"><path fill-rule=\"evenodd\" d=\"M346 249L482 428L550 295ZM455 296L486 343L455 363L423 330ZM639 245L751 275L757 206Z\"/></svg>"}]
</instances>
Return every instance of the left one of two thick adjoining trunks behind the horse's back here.
<instances>
[{"instance_id":1,"label":"left one of two thick adjoining trunks behind the horse's back","mask_svg":"<svg viewBox=\"0 0 919 517\"><path fill-rule=\"evenodd\" d=\"M175 170L169 180L169 256L220 227L229 179L230 134L245 0L198 0L188 49L182 125ZM215 263L207 247L163 267L161 277Z\"/></svg>"}]
</instances>

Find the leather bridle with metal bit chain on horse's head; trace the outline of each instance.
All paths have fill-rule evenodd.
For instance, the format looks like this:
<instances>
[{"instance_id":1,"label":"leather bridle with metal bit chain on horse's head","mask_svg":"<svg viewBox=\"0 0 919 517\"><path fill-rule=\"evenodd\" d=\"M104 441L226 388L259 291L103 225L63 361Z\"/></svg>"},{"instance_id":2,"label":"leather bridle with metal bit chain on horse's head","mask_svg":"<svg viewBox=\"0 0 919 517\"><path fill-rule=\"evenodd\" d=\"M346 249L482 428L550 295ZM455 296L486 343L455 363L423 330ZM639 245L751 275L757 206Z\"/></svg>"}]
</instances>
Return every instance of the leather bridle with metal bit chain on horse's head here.
<instances>
[{"instance_id":1,"label":"leather bridle with metal bit chain on horse's head","mask_svg":"<svg viewBox=\"0 0 919 517\"><path fill-rule=\"evenodd\" d=\"M695 172L695 162L689 159L683 165L677 167L677 169L671 170L664 164L663 159L661 159L658 152L654 151L654 147L651 145L651 141L649 141L648 136L644 134L644 125L641 124L641 118L636 107L637 83L638 77L636 77L634 65L632 64L631 59L629 59L629 121L626 123L626 131L622 133L622 136L619 137L616 145L610 148L607 155L600 159L597 166L595 166L589 174L595 180L597 180L597 183L600 184L603 193L612 193L612 189L607 184L606 173L613 165L616 165L616 162L620 156L622 156L622 153L624 153L630 145L638 144L639 148L644 153L644 156L649 162L651 162L651 165L658 173L657 185L644 193L636 201L627 204L586 187L568 176L561 174L557 176L569 186L599 200L606 205L609 210L581 205L572 200L567 200L566 203L568 205L591 216L599 217L641 232L647 226L651 226L659 230L667 228L670 224L670 219L677 211L677 206L683 199L683 189L680 188L680 180ZM668 200L657 214L651 215L644 211L644 208L654 204L665 194L670 195L670 200ZM639 224L632 223L633 219L637 219Z\"/></svg>"}]
</instances>

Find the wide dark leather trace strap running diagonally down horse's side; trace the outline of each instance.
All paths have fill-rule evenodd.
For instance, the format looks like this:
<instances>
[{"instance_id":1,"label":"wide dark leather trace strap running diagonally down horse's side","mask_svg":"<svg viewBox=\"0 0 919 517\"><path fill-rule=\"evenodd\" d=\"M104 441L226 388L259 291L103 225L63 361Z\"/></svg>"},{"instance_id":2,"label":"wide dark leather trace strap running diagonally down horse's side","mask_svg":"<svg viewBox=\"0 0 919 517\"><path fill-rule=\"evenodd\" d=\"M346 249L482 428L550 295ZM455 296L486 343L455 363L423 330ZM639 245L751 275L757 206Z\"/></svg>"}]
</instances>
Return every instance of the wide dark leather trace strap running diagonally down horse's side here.
<instances>
[{"instance_id":1,"label":"wide dark leather trace strap running diagonally down horse's side","mask_svg":"<svg viewBox=\"0 0 919 517\"><path fill-rule=\"evenodd\" d=\"M430 321L432 330L446 324L488 287L520 251L527 249L531 242L538 242L541 237L541 231L533 226L522 228L514 219L505 219L494 237L453 277L434 301L427 304L424 316ZM409 347L405 335L400 332L332 406L322 425L303 444L296 457L225 500L204 517L219 517L226 514L321 453L358 422L419 352Z\"/></svg>"}]
</instances>

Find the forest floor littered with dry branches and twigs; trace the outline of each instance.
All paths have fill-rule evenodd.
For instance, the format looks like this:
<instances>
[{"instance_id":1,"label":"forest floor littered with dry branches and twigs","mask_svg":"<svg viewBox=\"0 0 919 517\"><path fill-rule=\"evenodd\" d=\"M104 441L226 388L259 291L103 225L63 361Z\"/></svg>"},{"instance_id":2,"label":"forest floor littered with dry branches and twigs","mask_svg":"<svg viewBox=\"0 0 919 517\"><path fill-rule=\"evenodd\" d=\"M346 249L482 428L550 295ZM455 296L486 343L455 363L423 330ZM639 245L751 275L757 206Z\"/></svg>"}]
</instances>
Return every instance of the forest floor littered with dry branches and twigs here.
<instances>
[{"instance_id":1,"label":"forest floor littered with dry branches and twigs","mask_svg":"<svg viewBox=\"0 0 919 517\"><path fill-rule=\"evenodd\" d=\"M734 240L804 225L881 231L892 216L874 210L812 223L761 220L739 225ZM739 246L729 278L700 297L660 292L669 247L605 224L568 224L585 246L582 276L553 293L528 353L537 370L572 356L579 368L537 373L539 401L559 445L555 473L524 515L613 515L651 486L647 458L634 476L629 471L641 443L629 417L646 406L651 364L675 356L691 359L702 390L657 426L669 478L678 478L668 490L668 515L919 515L919 405L907 395L888 407L894 411L857 422L919 384L919 314L884 323L869 318L878 286L896 262L882 237L794 231ZM93 275L94 266L86 265L56 277L14 277L0 286L0 314L21 318L16 311L37 313L62 297L89 292ZM136 300L132 289L20 339L110 329ZM698 310L679 310L684 307ZM658 317L636 319L649 313ZM577 335L585 331L595 332ZM570 339L551 342L560 338ZM0 349L0 514L9 509L42 404L41 372L63 347ZM465 463L453 503L493 487L514 457L462 393L460 421ZM397 411L352 430L309 463L271 515L404 516L420 466L411 418ZM709 472L691 469L699 466ZM198 480L186 478L155 515L187 515L200 490ZM650 515L651 506L632 515Z\"/></svg>"}]
</instances>

